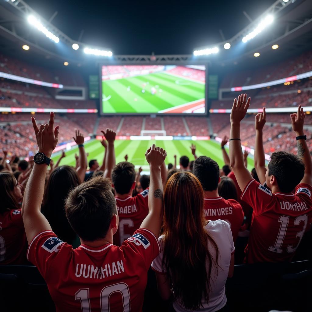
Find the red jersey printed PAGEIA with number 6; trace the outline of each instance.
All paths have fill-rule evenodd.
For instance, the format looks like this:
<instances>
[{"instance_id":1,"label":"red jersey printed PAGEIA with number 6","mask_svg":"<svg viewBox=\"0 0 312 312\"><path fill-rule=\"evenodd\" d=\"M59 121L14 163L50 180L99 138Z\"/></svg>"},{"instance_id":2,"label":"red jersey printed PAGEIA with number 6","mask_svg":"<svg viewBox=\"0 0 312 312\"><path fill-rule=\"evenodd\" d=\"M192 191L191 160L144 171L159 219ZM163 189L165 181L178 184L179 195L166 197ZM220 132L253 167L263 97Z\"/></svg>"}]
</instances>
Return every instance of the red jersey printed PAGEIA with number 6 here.
<instances>
[{"instance_id":1,"label":"red jersey printed PAGEIA with number 6","mask_svg":"<svg viewBox=\"0 0 312 312\"><path fill-rule=\"evenodd\" d=\"M142 224L149 214L149 189L135 197L129 196L125 199L116 198L119 226L113 236L113 243L121 246L124 240L129 238Z\"/></svg>"}]
</instances>

